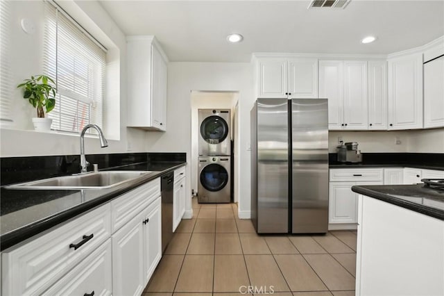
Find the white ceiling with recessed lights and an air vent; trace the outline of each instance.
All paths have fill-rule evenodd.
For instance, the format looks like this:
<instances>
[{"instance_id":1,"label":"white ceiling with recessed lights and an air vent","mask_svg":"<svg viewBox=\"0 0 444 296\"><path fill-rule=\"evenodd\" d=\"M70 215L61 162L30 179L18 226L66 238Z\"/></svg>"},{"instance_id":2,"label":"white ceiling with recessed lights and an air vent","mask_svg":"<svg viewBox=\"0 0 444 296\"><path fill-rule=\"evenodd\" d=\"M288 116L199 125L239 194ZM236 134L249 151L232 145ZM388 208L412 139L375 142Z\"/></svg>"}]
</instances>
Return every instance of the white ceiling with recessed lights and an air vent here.
<instances>
[{"instance_id":1,"label":"white ceiling with recessed lights and an air vent","mask_svg":"<svg viewBox=\"0 0 444 296\"><path fill-rule=\"evenodd\" d=\"M391 54L444 35L444 0L100 1L126 35L155 35L171 61L248 62L253 52ZM229 33L244 41L229 44ZM366 35L377 36L361 44Z\"/></svg>"}]
</instances>

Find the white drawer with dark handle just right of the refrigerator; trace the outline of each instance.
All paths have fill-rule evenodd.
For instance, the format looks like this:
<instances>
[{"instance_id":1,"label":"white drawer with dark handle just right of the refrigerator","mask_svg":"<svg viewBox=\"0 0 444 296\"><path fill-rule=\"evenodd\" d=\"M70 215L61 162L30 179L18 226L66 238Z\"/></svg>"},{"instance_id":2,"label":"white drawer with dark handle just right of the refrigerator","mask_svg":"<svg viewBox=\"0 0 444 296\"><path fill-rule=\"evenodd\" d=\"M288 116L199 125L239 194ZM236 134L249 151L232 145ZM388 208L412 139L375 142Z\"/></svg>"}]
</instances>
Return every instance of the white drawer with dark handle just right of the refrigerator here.
<instances>
[{"instance_id":1,"label":"white drawer with dark handle just right of the refrigerator","mask_svg":"<svg viewBox=\"0 0 444 296\"><path fill-rule=\"evenodd\" d=\"M382 169L335 169L330 170L330 182L383 181Z\"/></svg>"}]
</instances>

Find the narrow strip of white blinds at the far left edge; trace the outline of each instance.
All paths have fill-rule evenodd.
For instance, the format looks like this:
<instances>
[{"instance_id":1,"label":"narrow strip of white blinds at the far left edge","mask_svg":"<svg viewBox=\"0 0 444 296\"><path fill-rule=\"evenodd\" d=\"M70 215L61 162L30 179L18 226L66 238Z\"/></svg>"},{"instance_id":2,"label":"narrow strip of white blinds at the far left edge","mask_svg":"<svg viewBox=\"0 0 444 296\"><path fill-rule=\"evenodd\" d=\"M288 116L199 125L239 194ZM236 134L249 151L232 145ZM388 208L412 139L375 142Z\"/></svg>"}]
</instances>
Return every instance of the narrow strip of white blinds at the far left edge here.
<instances>
[{"instance_id":1,"label":"narrow strip of white blinds at the far left edge","mask_svg":"<svg viewBox=\"0 0 444 296\"><path fill-rule=\"evenodd\" d=\"M10 69L10 2L0 1L0 120L10 122L12 76Z\"/></svg>"}]
</instances>

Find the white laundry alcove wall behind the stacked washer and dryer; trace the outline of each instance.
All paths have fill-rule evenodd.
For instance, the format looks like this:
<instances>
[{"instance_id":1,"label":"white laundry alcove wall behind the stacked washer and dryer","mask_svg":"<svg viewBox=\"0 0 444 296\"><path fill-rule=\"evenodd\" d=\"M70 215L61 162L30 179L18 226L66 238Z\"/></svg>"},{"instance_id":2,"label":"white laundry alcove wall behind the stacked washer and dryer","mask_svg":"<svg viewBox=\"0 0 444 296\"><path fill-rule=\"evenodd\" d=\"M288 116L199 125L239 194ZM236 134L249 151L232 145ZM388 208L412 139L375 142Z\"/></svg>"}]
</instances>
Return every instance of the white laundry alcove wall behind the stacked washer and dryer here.
<instances>
[{"instance_id":1,"label":"white laundry alcove wall behind the stacked washer and dryer","mask_svg":"<svg viewBox=\"0 0 444 296\"><path fill-rule=\"evenodd\" d=\"M198 190L198 140L199 123L198 109L230 109L233 115L234 105L237 103L234 92L191 92L191 189ZM230 118L231 119L231 118ZM230 134L232 134L232 120L230 120ZM231 135L232 136L232 135Z\"/></svg>"}]
</instances>

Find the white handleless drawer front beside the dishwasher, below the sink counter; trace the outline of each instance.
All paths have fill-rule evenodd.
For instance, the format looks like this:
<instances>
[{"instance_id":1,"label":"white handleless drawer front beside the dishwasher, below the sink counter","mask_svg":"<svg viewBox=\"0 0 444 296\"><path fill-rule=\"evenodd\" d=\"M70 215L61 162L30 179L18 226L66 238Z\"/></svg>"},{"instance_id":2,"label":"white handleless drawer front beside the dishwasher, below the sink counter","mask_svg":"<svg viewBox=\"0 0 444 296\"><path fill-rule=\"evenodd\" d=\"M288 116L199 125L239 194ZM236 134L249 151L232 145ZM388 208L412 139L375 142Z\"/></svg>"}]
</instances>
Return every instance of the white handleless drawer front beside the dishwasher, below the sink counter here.
<instances>
[{"instance_id":1,"label":"white handleless drawer front beside the dishwasher, below the sink counter","mask_svg":"<svg viewBox=\"0 0 444 296\"><path fill-rule=\"evenodd\" d=\"M111 202L112 233L133 219L157 197L160 197L160 178L114 199Z\"/></svg>"}]
</instances>

